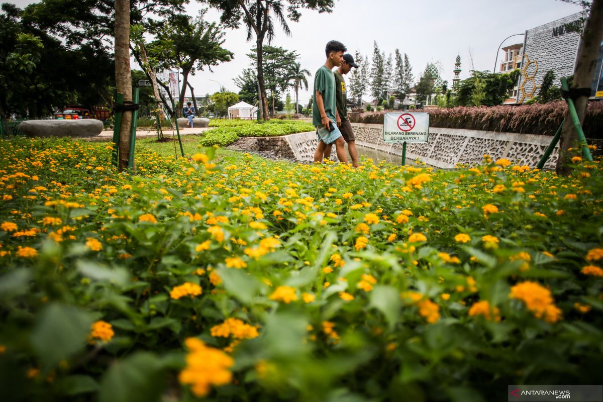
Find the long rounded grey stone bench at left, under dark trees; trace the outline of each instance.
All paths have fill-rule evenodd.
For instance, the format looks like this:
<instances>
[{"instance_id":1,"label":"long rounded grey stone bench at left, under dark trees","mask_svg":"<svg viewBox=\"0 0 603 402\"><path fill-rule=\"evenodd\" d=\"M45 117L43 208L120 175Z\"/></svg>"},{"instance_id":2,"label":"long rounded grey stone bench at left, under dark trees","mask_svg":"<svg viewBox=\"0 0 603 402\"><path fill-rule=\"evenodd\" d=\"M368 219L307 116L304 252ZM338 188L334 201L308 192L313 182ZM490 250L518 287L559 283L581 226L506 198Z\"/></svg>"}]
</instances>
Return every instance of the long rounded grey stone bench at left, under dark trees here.
<instances>
[{"instance_id":1,"label":"long rounded grey stone bench at left, under dark trees","mask_svg":"<svg viewBox=\"0 0 603 402\"><path fill-rule=\"evenodd\" d=\"M96 137L103 131L103 122L81 120L27 120L19 124L28 137Z\"/></svg>"}]
</instances>

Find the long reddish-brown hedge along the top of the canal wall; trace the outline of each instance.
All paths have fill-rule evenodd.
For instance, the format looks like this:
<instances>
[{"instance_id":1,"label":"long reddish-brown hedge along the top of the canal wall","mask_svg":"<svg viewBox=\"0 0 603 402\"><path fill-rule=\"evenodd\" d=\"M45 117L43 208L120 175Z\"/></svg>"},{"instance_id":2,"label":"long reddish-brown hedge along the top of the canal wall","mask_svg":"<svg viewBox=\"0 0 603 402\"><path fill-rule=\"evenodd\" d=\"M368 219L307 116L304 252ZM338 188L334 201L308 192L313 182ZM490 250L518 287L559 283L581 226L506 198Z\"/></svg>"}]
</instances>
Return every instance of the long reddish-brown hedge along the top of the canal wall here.
<instances>
[{"instance_id":1,"label":"long reddish-brown hedge along the top of the canal wall","mask_svg":"<svg viewBox=\"0 0 603 402\"><path fill-rule=\"evenodd\" d=\"M521 106L452 107L416 110L429 112L431 127L464 128L552 136L567 113L564 101ZM384 111L350 114L355 123L383 124ZM583 125L587 138L603 138L603 102L589 102Z\"/></svg>"}]
</instances>

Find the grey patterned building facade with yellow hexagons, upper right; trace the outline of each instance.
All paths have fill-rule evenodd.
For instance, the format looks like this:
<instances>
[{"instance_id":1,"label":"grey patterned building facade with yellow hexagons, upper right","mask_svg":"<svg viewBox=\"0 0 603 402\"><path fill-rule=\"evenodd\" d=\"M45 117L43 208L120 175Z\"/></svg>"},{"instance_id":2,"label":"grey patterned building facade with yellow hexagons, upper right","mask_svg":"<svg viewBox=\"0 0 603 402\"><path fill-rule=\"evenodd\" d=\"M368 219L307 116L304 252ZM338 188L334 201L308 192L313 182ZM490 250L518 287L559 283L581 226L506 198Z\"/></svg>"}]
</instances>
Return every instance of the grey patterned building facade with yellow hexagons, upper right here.
<instances>
[{"instance_id":1,"label":"grey patterned building facade with yellow hexagons, upper right","mask_svg":"<svg viewBox=\"0 0 603 402\"><path fill-rule=\"evenodd\" d=\"M517 103L524 103L538 95L538 89L549 70L555 73L557 85L561 77L569 77L574 73L581 39L578 32L567 28L581 25L583 17L583 13L575 13L526 31ZM603 43L599 47L593 74L591 99L603 99L602 62Z\"/></svg>"}]
</instances>

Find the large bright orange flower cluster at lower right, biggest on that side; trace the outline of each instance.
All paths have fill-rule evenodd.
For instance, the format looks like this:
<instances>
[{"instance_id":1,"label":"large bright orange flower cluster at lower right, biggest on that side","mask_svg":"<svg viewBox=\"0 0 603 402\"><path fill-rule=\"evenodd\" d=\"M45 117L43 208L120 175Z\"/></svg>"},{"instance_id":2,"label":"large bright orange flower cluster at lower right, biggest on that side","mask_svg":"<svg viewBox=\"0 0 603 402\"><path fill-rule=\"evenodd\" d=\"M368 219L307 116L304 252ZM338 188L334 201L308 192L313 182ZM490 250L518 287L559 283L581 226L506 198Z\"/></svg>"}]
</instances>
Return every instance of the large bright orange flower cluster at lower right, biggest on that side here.
<instances>
[{"instance_id":1,"label":"large bright orange flower cluster at lower right, biggest on that side","mask_svg":"<svg viewBox=\"0 0 603 402\"><path fill-rule=\"evenodd\" d=\"M523 301L536 318L544 318L547 322L557 322L561 318L561 310L555 306L551 291L536 282L516 284L511 287L509 297Z\"/></svg>"}]
</instances>

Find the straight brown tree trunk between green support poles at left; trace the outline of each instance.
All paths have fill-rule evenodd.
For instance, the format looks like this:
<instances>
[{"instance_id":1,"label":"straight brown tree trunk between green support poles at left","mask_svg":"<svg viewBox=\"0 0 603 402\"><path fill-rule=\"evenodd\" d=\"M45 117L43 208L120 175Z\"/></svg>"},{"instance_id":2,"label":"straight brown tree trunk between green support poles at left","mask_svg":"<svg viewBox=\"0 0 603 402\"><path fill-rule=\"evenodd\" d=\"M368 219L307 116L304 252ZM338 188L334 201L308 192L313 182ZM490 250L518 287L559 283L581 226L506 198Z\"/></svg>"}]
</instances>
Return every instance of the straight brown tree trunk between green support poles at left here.
<instances>
[{"instance_id":1,"label":"straight brown tree trunk between green support poles at left","mask_svg":"<svg viewBox=\"0 0 603 402\"><path fill-rule=\"evenodd\" d=\"M130 1L115 1L115 86L124 95L124 103L132 101L130 72ZM132 112L122 113L119 130L119 171L128 169Z\"/></svg>"}]
</instances>

